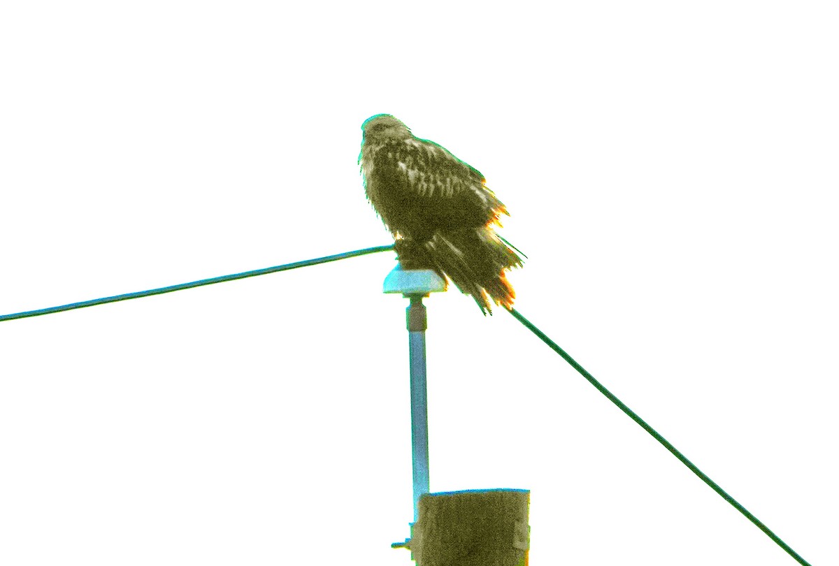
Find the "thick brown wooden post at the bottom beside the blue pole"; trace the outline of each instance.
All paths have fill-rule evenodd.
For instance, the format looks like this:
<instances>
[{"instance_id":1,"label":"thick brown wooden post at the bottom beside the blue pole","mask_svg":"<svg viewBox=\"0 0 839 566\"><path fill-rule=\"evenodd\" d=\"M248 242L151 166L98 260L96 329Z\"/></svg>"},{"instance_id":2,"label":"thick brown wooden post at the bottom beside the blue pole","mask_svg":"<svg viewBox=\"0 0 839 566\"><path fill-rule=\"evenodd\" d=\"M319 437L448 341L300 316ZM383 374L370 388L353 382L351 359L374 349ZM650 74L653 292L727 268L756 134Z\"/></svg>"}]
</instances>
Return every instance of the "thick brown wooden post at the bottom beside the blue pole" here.
<instances>
[{"instance_id":1,"label":"thick brown wooden post at the bottom beside the blue pole","mask_svg":"<svg viewBox=\"0 0 839 566\"><path fill-rule=\"evenodd\" d=\"M527 566L529 502L528 490L425 494L407 546L417 566Z\"/></svg>"}]
</instances>

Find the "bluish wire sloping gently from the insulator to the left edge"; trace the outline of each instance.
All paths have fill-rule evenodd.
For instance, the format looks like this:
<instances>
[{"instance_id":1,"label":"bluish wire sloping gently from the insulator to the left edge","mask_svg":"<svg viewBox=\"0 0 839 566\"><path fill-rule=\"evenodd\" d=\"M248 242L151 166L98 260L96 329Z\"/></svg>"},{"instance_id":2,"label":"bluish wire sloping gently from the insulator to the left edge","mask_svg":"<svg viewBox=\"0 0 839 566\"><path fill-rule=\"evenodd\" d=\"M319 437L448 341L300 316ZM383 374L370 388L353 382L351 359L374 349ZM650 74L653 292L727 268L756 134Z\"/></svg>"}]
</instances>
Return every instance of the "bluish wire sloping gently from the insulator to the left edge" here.
<instances>
[{"instance_id":1,"label":"bluish wire sloping gently from the insulator to the left edge","mask_svg":"<svg viewBox=\"0 0 839 566\"><path fill-rule=\"evenodd\" d=\"M295 269L297 267L309 267L310 265L317 265L318 263L336 262L339 259L347 259L347 257L366 256L368 253L388 252L388 250L392 249L393 245L367 247L363 250L337 253L334 256L317 257L316 259L307 259L303 262L286 263L284 265L278 265L274 267L264 267L263 269L254 269L253 271L246 271L243 273L233 273L232 275L222 275L221 277L201 279L200 281L192 281L190 283L169 285L169 287L149 289L148 291L138 291L137 293L125 293L122 295L115 295L113 297L103 297L102 299L81 301L81 303L62 304L59 307L29 310L24 313L0 314L0 322L3 322L4 320L26 319L30 316L40 316L41 314L60 313L65 310L84 309L85 307L92 307L95 304L116 303L117 301L126 301L128 299L139 299L141 297L150 297L151 295L172 293L173 291L180 291L182 289L190 289L193 287L201 287L203 285L212 285L213 283L224 283L225 281L233 281L235 279L256 277L257 275L267 275L268 273L276 273L278 271L288 271L289 269Z\"/></svg>"}]
</instances>

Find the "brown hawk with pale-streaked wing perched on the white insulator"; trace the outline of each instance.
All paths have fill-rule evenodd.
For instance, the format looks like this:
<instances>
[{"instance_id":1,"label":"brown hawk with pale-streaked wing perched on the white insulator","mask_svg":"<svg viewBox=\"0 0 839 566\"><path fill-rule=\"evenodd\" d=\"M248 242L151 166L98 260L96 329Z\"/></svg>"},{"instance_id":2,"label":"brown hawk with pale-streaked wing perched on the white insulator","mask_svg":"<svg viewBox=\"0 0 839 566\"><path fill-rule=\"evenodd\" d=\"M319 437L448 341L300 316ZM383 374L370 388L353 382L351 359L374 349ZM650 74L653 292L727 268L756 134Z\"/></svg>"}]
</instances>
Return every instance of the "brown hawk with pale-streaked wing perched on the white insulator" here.
<instances>
[{"instance_id":1,"label":"brown hawk with pale-streaked wing perched on the white insulator","mask_svg":"<svg viewBox=\"0 0 839 566\"><path fill-rule=\"evenodd\" d=\"M505 272L522 259L493 230L509 213L483 175L389 114L367 118L362 132L358 162L367 199L404 267L445 274L483 314L492 314L492 303L511 307L515 293Z\"/></svg>"}]
</instances>

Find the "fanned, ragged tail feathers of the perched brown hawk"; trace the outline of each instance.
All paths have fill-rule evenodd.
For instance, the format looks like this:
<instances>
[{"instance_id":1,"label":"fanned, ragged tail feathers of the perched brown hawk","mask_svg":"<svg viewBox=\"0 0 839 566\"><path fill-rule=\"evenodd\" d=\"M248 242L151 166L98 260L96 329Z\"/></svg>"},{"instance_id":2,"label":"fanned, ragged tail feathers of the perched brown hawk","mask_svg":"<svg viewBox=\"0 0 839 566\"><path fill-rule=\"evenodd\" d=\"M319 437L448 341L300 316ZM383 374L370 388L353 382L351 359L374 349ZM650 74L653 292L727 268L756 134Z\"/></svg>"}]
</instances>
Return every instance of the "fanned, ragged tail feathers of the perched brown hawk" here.
<instances>
[{"instance_id":1,"label":"fanned, ragged tail feathers of the perched brown hawk","mask_svg":"<svg viewBox=\"0 0 839 566\"><path fill-rule=\"evenodd\" d=\"M437 231L423 247L435 270L445 273L461 292L471 295L483 314L492 314L492 303L506 309L513 306L516 293L505 272L521 267L522 258L492 228Z\"/></svg>"}]
</instances>

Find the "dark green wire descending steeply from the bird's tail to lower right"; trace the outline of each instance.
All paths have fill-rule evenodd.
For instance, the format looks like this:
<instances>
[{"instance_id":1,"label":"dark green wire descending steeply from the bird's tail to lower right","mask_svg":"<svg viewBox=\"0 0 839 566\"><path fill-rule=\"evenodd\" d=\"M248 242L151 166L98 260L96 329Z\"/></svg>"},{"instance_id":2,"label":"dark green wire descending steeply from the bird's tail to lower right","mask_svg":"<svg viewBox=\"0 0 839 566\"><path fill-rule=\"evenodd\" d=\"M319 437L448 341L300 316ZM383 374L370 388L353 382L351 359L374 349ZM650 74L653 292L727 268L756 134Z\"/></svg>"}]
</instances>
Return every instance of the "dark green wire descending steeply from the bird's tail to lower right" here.
<instances>
[{"instance_id":1,"label":"dark green wire descending steeply from the bird's tail to lower right","mask_svg":"<svg viewBox=\"0 0 839 566\"><path fill-rule=\"evenodd\" d=\"M737 509L737 511L740 511L741 513L743 513L743 515L749 521L754 523L755 527L758 527L761 531L763 531L766 534L767 537L771 538L776 544L778 544L778 546L780 548L783 548L789 554L789 556L791 556L792 558L795 558L795 560L798 563L802 564L802 566L810 566L810 563L807 562L804 558L801 558L799 553L796 553L795 550L793 550L792 548L789 547L789 544L784 543L784 541L782 541L778 535L776 535L774 532L769 530L769 527L764 525L763 522L760 522L758 517L755 517L754 515L752 515L752 513L749 512L748 509L746 509L746 507L740 505L737 502L737 500L735 500L732 496L728 495L726 493L726 491L724 491L722 489L722 487L717 486L717 483L714 480L711 480L711 478L709 478L705 474L705 472L703 472L702 470L697 468L696 465L693 464L693 462L691 462L690 460L685 458L685 454L682 454L679 450L677 450L676 447L673 444L670 444L670 442L668 442L667 439L665 439L663 436L661 436L661 434L659 434L653 427L649 426L649 424L647 424L646 421L644 421L643 418L638 417L638 415L635 414L634 411L631 408L628 408L623 403L623 401L618 399L618 397L615 397L614 394L612 392L610 392L606 387L603 387L603 384L601 382L598 382L597 379L595 379L594 376L591 375L591 373L586 371L586 368L584 368L583 366L578 364L574 360L574 358L569 356L568 353L565 352L565 350L560 348L560 346L557 345L554 340L550 340L550 338L547 335L545 335L544 332L539 330L528 319L525 319L524 316L522 316L522 314L520 314L518 310L513 309L512 307L510 307L508 310L509 310L509 313L512 314L513 317L518 319L520 323L522 323L524 326L526 326L528 328L528 330L533 332L534 335L539 336L539 340L542 340L543 342L545 342L545 344L550 346L551 350L555 351L557 354L562 356L565 359L565 361L567 361L569 364L571 364L571 367L573 367L576 371L579 371L580 375L585 377L588 380L588 382L591 383L591 385L593 385L594 387L597 387L597 391L599 391L603 395L605 395L609 401L618 405L618 408L620 410L622 410L624 413L627 413L629 418L632 418L633 421L635 421L636 423L638 423L641 426L641 428L644 428L644 430L646 430L654 439L658 440L664 446L664 448L670 450L670 453L672 453L676 458L678 458L682 464L686 465L690 469L690 471L692 471L694 474L698 475L699 479L704 481L706 484L708 484L708 486L711 487L711 489L713 491L717 491L717 494L719 494L719 496L721 496L722 499L728 501L729 503L732 504L732 506L735 509Z\"/></svg>"}]
</instances>

